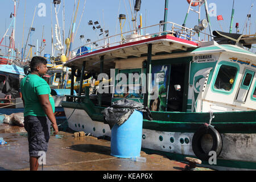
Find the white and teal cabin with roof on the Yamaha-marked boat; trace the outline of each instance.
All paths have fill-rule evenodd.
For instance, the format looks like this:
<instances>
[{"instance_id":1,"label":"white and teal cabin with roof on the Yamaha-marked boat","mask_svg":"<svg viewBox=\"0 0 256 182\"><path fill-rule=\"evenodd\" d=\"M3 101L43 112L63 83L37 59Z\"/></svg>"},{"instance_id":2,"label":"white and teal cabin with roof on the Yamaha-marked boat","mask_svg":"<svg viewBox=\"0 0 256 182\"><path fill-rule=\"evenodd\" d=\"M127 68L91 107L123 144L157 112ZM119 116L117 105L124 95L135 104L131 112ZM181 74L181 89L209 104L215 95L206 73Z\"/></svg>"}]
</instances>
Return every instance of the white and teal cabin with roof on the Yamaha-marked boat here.
<instances>
[{"instance_id":1,"label":"white and teal cabin with roof on the Yamaha-marked boat","mask_svg":"<svg viewBox=\"0 0 256 182\"><path fill-rule=\"evenodd\" d=\"M65 65L72 68L71 80L76 69L97 73L98 106L127 98L151 111L255 110L255 54L241 44L192 41L189 31L127 36L116 46L79 53ZM109 102L102 105L106 94Z\"/></svg>"}]
</instances>

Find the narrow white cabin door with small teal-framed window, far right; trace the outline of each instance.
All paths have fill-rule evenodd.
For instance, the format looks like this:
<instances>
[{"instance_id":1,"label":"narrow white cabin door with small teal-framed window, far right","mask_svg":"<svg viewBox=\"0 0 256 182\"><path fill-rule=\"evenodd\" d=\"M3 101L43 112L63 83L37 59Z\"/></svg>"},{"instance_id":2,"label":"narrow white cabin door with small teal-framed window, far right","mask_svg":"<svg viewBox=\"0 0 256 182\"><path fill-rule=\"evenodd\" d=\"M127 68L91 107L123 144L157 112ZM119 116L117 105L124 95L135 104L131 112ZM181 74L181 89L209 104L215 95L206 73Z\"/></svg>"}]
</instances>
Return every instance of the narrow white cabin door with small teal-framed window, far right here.
<instances>
[{"instance_id":1,"label":"narrow white cabin door with small teal-framed window, far right","mask_svg":"<svg viewBox=\"0 0 256 182\"><path fill-rule=\"evenodd\" d=\"M255 72L250 71L249 69L245 70L245 74L243 75L243 80L241 82L240 89L238 90L237 93L236 100L238 102L245 102L251 86L251 81L253 81L254 74Z\"/></svg>"}]
</instances>

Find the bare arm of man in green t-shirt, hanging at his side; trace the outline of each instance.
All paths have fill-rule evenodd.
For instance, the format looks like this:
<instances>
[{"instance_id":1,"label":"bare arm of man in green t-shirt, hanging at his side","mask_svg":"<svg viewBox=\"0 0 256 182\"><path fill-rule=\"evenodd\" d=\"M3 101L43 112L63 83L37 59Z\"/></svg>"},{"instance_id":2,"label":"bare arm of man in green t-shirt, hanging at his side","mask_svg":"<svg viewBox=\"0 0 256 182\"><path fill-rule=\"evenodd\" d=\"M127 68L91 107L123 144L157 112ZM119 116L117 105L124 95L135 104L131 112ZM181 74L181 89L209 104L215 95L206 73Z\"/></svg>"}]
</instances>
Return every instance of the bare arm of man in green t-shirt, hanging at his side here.
<instances>
[{"instance_id":1,"label":"bare arm of man in green t-shirt, hanging at his side","mask_svg":"<svg viewBox=\"0 0 256 182\"><path fill-rule=\"evenodd\" d=\"M52 111L51 103L49 102L49 94L38 95L38 98L39 98L40 104L43 107L44 112L46 113L49 120L52 122L54 134L56 135L59 132L59 129L57 126L55 115L53 114L53 111Z\"/></svg>"}]
</instances>

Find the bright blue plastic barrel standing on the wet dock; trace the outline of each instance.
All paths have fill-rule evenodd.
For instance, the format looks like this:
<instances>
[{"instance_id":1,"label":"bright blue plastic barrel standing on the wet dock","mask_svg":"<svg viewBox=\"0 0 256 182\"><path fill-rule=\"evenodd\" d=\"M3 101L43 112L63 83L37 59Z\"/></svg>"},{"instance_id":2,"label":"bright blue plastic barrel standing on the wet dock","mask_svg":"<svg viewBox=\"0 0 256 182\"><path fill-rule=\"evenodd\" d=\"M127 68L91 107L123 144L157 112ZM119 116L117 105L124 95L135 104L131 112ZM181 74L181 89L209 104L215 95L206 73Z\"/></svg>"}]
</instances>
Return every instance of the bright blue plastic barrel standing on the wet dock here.
<instances>
[{"instance_id":1,"label":"bright blue plastic barrel standing on the wet dock","mask_svg":"<svg viewBox=\"0 0 256 182\"><path fill-rule=\"evenodd\" d=\"M134 110L121 126L115 124L111 130L111 155L118 158L133 158L141 154L142 142L141 111Z\"/></svg>"}]
</instances>

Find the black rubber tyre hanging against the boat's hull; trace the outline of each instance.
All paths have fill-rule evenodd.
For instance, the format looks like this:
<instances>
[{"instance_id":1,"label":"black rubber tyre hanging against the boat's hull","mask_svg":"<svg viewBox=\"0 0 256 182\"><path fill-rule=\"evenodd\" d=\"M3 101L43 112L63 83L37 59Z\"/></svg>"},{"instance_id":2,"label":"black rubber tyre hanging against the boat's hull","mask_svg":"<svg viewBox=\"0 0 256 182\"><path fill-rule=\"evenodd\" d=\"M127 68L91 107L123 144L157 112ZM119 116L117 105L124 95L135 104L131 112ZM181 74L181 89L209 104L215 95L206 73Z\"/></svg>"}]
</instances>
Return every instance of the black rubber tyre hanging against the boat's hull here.
<instances>
[{"instance_id":1,"label":"black rubber tyre hanging against the boat's hull","mask_svg":"<svg viewBox=\"0 0 256 182\"><path fill-rule=\"evenodd\" d=\"M199 159L208 161L210 156L204 152L201 146L201 139L205 134L209 134L212 137L213 145L210 151L215 151L217 156L220 155L220 152L222 150L222 139L220 133L218 133L216 129L209 125L204 125L200 127L200 129L197 130L196 133L193 135L192 148L194 154Z\"/></svg>"}]
</instances>

